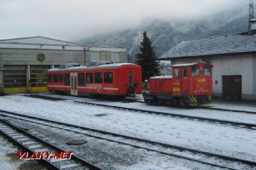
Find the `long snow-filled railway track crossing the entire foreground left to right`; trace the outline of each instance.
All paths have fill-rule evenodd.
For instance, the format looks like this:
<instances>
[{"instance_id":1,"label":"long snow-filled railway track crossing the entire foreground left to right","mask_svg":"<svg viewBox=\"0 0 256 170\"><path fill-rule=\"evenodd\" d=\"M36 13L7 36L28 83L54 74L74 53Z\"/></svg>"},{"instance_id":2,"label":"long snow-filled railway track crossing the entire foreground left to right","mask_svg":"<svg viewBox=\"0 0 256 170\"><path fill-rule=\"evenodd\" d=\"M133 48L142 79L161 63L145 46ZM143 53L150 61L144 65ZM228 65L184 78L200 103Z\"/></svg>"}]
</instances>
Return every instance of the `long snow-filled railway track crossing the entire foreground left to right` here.
<instances>
[{"instance_id":1,"label":"long snow-filled railway track crossing the entire foreground left to right","mask_svg":"<svg viewBox=\"0 0 256 170\"><path fill-rule=\"evenodd\" d=\"M166 143L149 141L149 140L141 139L141 138L137 138L137 137L130 137L130 136L127 136L127 135L110 133L108 131L103 131L103 130L97 130L97 129L92 129L92 128L86 128L86 127L83 127L83 126L66 124L66 123L63 123L63 122L47 120L47 119L44 119L44 118L24 116L23 114L14 113L14 112L7 112L7 111L1 111L1 110L0 110L0 112L2 112L2 113L0 113L0 115L4 116L4 117L9 117L9 118L14 118L16 120L32 122L32 123L40 124L40 125L44 125L44 126L51 126L52 128L58 128L58 129L62 129L62 130L73 131L75 133L88 135L89 137L104 139L104 140L110 141L110 142L117 142L117 143L121 143L122 145L129 145L129 146L133 146L133 147L136 147L136 148L142 148L142 149L145 149L145 150L148 150L148 151L159 152L160 154L175 156L176 158L187 159L187 160L190 160L190 161L193 161L193 162L208 164L208 165L212 165L213 167L236 169L236 168L232 167L232 164L234 164L234 163L237 164L237 165L241 165L241 163L242 163L242 164L245 164L245 165L249 166L250 168L253 168L253 167L255 168L256 167L256 162L253 162L253 161L250 161L250 160L243 160L243 159L233 158L233 157L230 157L230 156L225 156L225 155L219 155L219 154L214 154L214 153L205 152L205 151L194 150L194 149L191 149L191 148L185 148L185 147L180 147L180 146L175 146L175 145L169 145L169 144L166 144ZM58 126L60 125L60 127L57 127L57 125ZM66 126L67 128L63 128L63 126ZM70 129L70 128L72 128L72 129ZM76 130L74 130L74 129L76 129ZM97 133L98 135L90 134L90 133L82 133L81 130L90 131L92 133ZM102 137L102 135L107 135L107 137ZM130 142L121 142L119 140L109 139L108 138L109 135L111 135L112 137L123 138L123 139L129 140ZM133 144L134 141L137 143L136 145ZM171 148L172 150L175 150L175 151L174 151L174 153L170 153L170 152L166 152L166 151L159 151L159 150L152 149L154 147L144 147L144 145L138 146L138 142L139 143L150 144L152 146L160 146L160 147L163 147L163 148ZM176 154L177 152L181 152L181 153L186 152L185 155L187 155L187 152L189 152L191 155L195 155L195 154L196 155L204 155L209 160L213 160L213 162L216 161L216 159L218 159L218 160L217 160L217 163L210 163L210 162L207 162L205 160L194 159L193 156L191 158L189 156L184 156L183 154ZM225 163L222 163L220 165L221 161L224 161ZM240 169L240 168L238 168L238 169Z\"/></svg>"}]
</instances>

